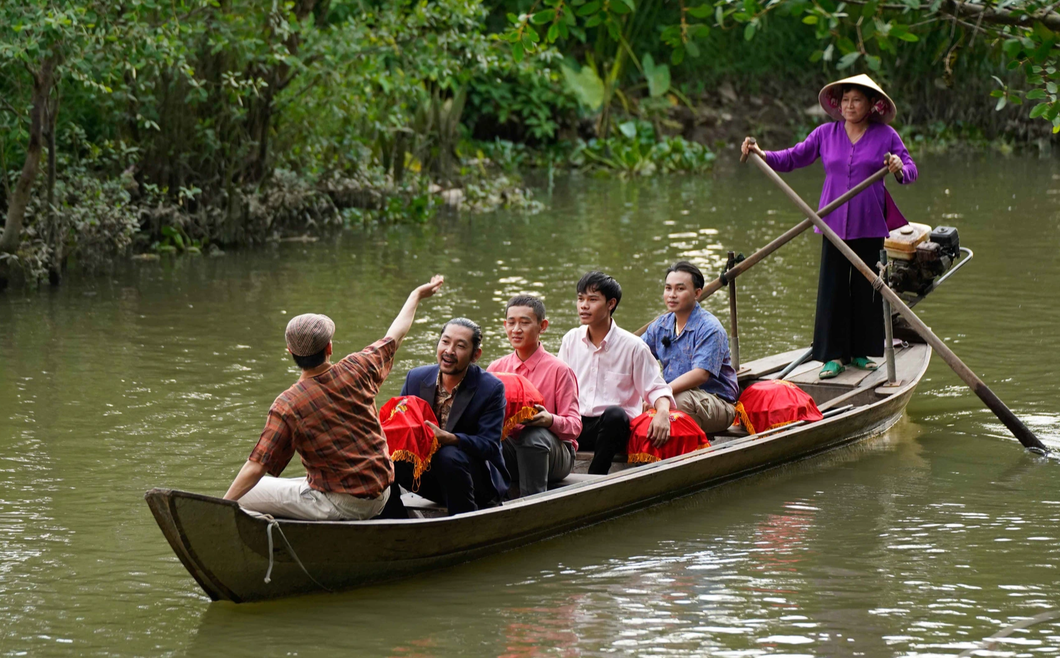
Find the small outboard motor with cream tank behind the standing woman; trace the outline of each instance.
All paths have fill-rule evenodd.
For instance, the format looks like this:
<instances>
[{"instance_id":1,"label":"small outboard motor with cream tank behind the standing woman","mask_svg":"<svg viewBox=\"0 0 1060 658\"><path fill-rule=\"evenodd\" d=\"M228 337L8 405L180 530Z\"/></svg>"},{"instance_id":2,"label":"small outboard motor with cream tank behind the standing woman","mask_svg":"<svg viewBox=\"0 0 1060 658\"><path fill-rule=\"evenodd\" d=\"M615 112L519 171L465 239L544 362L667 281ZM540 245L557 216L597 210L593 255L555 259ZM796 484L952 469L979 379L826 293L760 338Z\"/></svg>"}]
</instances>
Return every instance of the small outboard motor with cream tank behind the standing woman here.
<instances>
[{"instance_id":1,"label":"small outboard motor with cream tank behind the standing woman","mask_svg":"<svg viewBox=\"0 0 1060 658\"><path fill-rule=\"evenodd\" d=\"M957 229L908 224L895 229L884 241L887 250L887 285L896 292L916 296L931 290L960 254Z\"/></svg>"}]
</instances>

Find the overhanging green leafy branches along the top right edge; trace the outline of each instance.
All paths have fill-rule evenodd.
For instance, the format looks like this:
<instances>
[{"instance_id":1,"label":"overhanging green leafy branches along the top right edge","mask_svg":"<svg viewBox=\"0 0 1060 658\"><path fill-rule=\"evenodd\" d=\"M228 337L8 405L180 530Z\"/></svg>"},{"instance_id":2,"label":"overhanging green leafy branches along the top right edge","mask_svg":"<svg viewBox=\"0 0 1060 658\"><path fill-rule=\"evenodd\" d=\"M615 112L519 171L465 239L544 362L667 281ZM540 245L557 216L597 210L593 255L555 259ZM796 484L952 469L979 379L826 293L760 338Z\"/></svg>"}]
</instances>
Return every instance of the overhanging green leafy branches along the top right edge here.
<instances>
[{"instance_id":1,"label":"overhanging green leafy branches along the top right edge","mask_svg":"<svg viewBox=\"0 0 1060 658\"><path fill-rule=\"evenodd\" d=\"M1022 73L1025 81L1025 88L1019 89L1000 83L992 94L997 99L994 107L1002 110L1032 102L1024 111L1052 122L1054 131L1060 132L1060 13L1056 10L1056 3L1045 0L1006 0L996 6L985 0L853 4L834 0L541 0L529 11L508 13L509 24L499 38L509 43L516 60L553 46L565 53L583 54L599 82L590 73L582 73L581 78L568 75L568 82L587 107L602 105L602 128L608 125L613 97L617 95L623 108L630 109L619 92L628 61L643 76L653 96L665 93L659 91L667 86L660 79L665 75L656 72L654 58L638 60L634 52L648 51L651 56L665 46L674 67L689 58L714 65L709 51L719 32L738 32L745 41L768 33L771 42L757 50L771 51L777 25L792 24L817 45L808 57L810 63L842 73L867 71L886 79L897 73L897 64L891 63L898 59L930 60L937 72L929 79L951 87L961 53L992 57L997 66ZM930 53L919 49L925 40L937 48Z\"/></svg>"}]
</instances>

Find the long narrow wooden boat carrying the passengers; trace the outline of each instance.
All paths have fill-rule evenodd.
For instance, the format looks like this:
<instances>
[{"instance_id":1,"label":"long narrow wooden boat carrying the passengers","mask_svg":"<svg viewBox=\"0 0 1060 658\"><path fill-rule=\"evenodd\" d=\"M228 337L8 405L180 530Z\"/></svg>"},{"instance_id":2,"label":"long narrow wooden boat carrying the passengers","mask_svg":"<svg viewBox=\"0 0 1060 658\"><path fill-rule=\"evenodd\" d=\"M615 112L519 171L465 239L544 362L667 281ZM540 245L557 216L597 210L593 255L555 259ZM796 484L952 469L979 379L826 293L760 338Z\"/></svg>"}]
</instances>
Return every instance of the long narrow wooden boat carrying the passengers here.
<instances>
[{"instance_id":1,"label":"long narrow wooden boat carrying the passengers","mask_svg":"<svg viewBox=\"0 0 1060 658\"><path fill-rule=\"evenodd\" d=\"M741 384L775 376L802 353L746 363ZM753 435L726 432L695 452L607 476L572 474L549 492L455 517L422 499L417 504L411 494L403 499L422 518L273 520L231 501L164 488L147 492L146 500L177 557L215 601L350 589L519 548L879 434L901 417L931 354L925 344L897 348L895 386L886 386L882 367L818 381L820 363L809 361L785 379L827 409L823 421ZM584 457L579 463L584 469Z\"/></svg>"}]
</instances>

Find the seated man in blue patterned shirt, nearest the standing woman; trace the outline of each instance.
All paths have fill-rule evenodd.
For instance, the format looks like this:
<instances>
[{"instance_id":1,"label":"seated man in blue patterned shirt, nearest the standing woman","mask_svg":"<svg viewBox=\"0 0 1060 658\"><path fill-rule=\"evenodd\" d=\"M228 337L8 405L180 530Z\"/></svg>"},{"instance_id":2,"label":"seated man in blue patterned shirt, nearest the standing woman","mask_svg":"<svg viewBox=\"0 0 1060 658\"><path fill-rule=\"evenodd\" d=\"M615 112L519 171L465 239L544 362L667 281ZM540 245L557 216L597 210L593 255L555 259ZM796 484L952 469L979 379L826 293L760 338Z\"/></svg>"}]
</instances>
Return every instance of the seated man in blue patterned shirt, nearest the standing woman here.
<instances>
[{"instance_id":1,"label":"seated man in blue patterned shirt, nearest the standing woman","mask_svg":"<svg viewBox=\"0 0 1060 658\"><path fill-rule=\"evenodd\" d=\"M662 363L677 409L711 434L736 420L740 387L729 359L728 334L696 301L703 284L699 267L687 261L671 265L662 292L670 313L652 322L641 339Z\"/></svg>"}]
</instances>

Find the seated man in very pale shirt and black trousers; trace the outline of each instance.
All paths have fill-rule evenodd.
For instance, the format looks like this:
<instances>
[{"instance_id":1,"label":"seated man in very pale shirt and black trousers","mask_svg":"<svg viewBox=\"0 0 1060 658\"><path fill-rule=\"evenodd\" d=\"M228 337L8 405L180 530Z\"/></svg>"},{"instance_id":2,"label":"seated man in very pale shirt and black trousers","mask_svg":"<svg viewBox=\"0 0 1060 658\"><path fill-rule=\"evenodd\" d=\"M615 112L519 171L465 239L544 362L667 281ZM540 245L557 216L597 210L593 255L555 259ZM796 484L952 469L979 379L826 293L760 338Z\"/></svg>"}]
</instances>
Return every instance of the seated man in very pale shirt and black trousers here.
<instances>
[{"instance_id":1,"label":"seated man in very pale shirt and black trousers","mask_svg":"<svg viewBox=\"0 0 1060 658\"><path fill-rule=\"evenodd\" d=\"M578 443L594 450L589 473L606 475L615 456L630 441L630 421L643 402L658 413L648 429L656 445L670 439L673 392L647 344L615 323L612 315L622 300L622 287L603 272L588 272L578 282L578 318L582 325L567 332L560 358L578 378L582 433Z\"/></svg>"}]
</instances>

